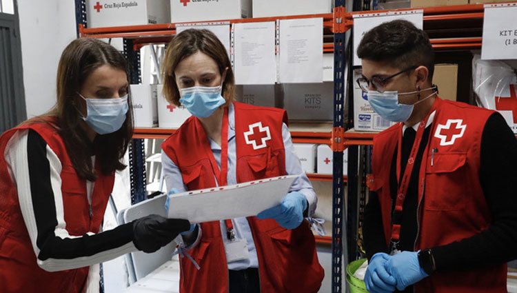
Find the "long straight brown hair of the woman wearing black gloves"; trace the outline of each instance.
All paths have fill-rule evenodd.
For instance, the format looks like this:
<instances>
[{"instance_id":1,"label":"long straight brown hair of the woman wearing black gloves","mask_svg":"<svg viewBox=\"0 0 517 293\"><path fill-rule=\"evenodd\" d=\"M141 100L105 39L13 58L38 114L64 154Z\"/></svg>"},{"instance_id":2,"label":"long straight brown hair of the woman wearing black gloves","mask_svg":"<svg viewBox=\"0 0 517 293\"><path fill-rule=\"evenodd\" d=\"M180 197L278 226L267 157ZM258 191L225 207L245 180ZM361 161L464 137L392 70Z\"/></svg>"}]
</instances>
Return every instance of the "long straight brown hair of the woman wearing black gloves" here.
<instances>
[{"instance_id":1,"label":"long straight brown hair of the woman wearing black gloves","mask_svg":"<svg viewBox=\"0 0 517 293\"><path fill-rule=\"evenodd\" d=\"M77 94L86 79L101 65L123 70L126 77L129 72L128 63L123 55L108 43L98 39L81 38L72 41L61 54L57 69L57 103L54 108L44 114L45 117L57 119L58 132L65 143L72 165L79 177L94 181L97 179L88 150L90 141L85 130L81 128L83 119L77 108ZM123 170L122 163L125 151L133 135L132 99L129 94L129 110L125 114L122 127L110 134L97 134L92 146L96 161L103 174L111 174L115 170ZM46 119L48 120L48 119Z\"/></svg>"}]
</instances>

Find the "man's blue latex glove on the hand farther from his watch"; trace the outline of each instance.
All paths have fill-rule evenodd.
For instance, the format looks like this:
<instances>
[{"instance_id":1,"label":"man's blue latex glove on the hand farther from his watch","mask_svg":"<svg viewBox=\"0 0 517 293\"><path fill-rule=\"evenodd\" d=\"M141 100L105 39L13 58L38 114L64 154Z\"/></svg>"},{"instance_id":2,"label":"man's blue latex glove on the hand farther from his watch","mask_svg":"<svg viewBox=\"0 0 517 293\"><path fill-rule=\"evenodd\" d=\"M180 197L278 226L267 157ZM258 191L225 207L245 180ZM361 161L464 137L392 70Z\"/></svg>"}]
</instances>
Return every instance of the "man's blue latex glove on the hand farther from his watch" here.
<instances>
[{"instance_id":1,"label":"man's blue latex glove on the hand farther from his watch","mask_svg":"<svg viewBox=\"0 0 517 293\"><path fill-rule=\"evenodd\" d=\"M365 285L368 292L386 293L395 291L396 280L388 274L385 268L385 264L391 257L383 252L378 252L370 259L365 274Z\"/></svg>"}]
</instances>

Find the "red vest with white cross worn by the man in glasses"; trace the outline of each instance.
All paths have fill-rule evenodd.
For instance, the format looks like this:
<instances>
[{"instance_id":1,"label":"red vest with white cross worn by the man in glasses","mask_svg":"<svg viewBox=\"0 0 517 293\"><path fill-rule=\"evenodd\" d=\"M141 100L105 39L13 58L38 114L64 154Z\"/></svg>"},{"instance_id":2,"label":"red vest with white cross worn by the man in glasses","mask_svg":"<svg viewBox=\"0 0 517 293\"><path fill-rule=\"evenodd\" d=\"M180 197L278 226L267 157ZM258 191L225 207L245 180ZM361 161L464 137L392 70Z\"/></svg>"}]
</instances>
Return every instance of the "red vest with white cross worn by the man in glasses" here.
<instances>
[{"instance_id":1,"label":"red vest with white cross worn by the man in glasses","mask_svg":"<svg viewBox=\"0 0 517 293\"><path fill-rule=\"evenodd\" d=\"M485 123L494 111L436 98L429 143L423 152L418 183L419 232L416 250L460 241L486 230L492 219L479 181L480 145ZM383 215L386 243L392 233L389 189L391 160L402 123L374 138L372 178ZM434 150L434 152L432 151ZM472 256L476 257L476 256ZM467 272L436 272L416 283L416 292L507 292L506 264Z\"/></svg>"}]
</instances>

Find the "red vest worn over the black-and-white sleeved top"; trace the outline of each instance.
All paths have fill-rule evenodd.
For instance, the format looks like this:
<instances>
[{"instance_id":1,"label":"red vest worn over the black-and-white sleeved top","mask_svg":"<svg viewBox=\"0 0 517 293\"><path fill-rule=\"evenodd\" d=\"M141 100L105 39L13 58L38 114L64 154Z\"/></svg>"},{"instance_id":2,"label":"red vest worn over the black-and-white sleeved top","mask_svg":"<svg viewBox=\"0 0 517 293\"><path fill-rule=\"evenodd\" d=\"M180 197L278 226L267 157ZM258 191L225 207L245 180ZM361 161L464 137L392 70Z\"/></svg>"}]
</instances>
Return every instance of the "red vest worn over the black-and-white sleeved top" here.
<instances>
[{"instance_id":1,"label":"red vest worn over the black-and-white sleeved top","mask_svg":"<svg viewBox=\"0 0 517 293\"><path fill-rule=\"evenodd\" d=\"M97 181L92 194L93 216L90 219L86 181L77 176L63 140L52 125L34 122L8 130L0 137L0 154L18 130L32 129L43 137L61 161L66 230L71 236L99 232L110 193L114 173L101 175L96 166ZM46 272L37 265L30 237L19 207L17 188L8 174L4 156L0 156L0 292L82 292L88 267L61 272Z\"/></svg>"}]
</instances>

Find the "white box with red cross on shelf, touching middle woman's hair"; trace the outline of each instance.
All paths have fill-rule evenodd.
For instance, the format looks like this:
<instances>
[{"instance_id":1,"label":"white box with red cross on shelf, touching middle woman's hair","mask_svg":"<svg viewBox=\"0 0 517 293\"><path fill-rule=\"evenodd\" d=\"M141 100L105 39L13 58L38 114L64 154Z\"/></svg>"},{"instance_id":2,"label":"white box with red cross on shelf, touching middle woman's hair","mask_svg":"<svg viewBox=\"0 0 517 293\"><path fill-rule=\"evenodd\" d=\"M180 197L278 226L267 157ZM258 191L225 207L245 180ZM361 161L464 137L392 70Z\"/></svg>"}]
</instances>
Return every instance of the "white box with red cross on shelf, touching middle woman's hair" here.
<instances>
[{"instance_id":1,"label":"white box with red cross on shelf, touching middle woman's hair","mask_svg":"<svg viewBox=\"0 0 517 293\"><path fill-rule=\"evenodd\" d=\"M158 125L160 128L179 128L188 117L190 112L183 107L170 104L163 97L163 85L156 85L156 95L158 96Z\"/></svg>"}]
</instances>

